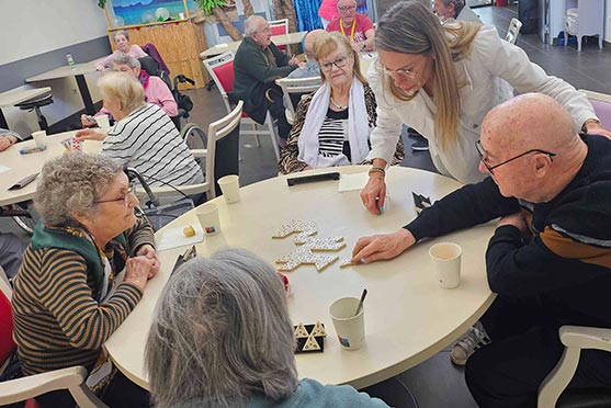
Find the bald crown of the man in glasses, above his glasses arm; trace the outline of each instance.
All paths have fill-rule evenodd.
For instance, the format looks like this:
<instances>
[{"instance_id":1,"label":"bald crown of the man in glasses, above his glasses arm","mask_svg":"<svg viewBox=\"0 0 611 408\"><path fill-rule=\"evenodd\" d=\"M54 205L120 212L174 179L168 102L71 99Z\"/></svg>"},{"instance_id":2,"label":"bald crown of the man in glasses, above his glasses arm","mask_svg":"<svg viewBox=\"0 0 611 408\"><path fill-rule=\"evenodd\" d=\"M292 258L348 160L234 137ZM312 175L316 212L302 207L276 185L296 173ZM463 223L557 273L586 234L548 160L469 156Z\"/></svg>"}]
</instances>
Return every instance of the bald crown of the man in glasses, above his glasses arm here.
<instances>
[{"instance_id":1,"label":"bald crown of the man in glasses, above his glasses arm","mask_svg":"<svg viewBox=\"0 0 611 408\"><path fill-rule=\"evenodd\" d=\"M494 107L482 123L482 140L509 151L562 151L579 141L570 114L553 98L525 93Z\"/></svg>"}]
</instances>

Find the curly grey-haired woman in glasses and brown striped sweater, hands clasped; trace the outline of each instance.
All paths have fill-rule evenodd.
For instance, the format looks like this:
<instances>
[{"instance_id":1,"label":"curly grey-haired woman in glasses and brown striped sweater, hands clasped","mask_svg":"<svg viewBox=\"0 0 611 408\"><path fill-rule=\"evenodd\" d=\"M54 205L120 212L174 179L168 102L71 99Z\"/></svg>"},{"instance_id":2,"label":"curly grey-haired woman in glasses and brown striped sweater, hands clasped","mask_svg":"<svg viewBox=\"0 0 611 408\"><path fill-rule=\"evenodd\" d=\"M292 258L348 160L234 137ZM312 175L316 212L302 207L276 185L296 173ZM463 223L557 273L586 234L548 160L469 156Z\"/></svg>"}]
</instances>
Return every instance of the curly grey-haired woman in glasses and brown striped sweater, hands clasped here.
<instances>
[{"instance_id":1,"label":"curly grey-haired woman in glasses and brown striped sweater, hands clasped","mask_svg":"<svg viewBox=\"0 0 611 408\"><path fill-rule=\"evenodd\" d=\"M121 163L100 155L67 154L48 161L34 205L44 223L25 250L12 302L22 371L98 369L102 344L159 270L152 229L134 214L138 199ZM105 385L105 404L148 405L144 389L118 372L111 374L95 384ZM67 390L36 399L43 407L75 407Z\"/></svg>"}]
</instances>

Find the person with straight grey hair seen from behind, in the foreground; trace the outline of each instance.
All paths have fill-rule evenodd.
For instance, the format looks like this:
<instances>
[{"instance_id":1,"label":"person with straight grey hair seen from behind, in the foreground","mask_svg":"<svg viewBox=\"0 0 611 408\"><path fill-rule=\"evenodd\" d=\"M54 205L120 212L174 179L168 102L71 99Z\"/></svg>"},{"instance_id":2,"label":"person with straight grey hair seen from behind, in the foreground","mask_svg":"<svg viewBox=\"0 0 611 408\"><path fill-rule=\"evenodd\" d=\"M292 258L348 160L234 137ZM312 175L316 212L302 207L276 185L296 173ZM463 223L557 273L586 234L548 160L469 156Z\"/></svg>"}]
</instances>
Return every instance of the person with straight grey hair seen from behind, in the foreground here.
<instances>
[{"instance_id":1,"label":"person with straight grey hair seen from behind, in the foreground","mask_svg":"<svg viewBox=\"0 0 611 408\"><path fill-rule=\"evenodd\" d=\"M157 304L145 364L156 407L387 407L297 377L278 272L245 249L185 263Z\"/></svg>"}]
</instances>

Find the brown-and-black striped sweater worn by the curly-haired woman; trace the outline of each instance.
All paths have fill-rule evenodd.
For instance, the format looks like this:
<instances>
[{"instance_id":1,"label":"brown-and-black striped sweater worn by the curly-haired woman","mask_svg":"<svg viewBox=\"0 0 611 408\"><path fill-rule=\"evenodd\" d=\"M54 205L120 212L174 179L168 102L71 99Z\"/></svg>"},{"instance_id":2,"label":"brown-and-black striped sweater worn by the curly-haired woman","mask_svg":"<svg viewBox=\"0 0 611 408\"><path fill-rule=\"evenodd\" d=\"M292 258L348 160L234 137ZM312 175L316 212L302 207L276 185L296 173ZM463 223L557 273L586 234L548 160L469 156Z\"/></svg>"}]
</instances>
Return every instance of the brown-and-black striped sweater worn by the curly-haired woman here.
<instances>
[{"instance_id":1,"label":"brown-and-black striped sweater worn by the curly-haired woman","mask_svg":"<svg viewBox=\"0 0 611 408\"><path fill-rule=\"evenodd\" d=\"M128 254L144 243L154 243L152 229L143 220L124 234ZM122 268L111 246L104 252L113 271ZM101 262L99 257L97 261ZM25 250L12 301L13 337L25 374L71 365L91 369L102 344L143 296L136 285L121 283L99 304L87 262L67 249L33 249L30 245Z\"/></svg>"}]
</instances>

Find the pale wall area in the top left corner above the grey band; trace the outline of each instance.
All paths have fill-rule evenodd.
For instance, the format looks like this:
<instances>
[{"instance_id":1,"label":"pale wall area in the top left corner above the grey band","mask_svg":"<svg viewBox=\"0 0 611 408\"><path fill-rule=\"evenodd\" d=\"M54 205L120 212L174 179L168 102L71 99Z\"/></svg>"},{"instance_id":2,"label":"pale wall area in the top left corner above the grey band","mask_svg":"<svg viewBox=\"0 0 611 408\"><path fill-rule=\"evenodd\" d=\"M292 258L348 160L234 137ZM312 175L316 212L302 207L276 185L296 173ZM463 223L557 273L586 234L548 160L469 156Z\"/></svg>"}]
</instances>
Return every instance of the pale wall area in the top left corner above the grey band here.
<instances>
[{"instance_id":1,"label":"pale wall area in the top left corner above the grey band","mask_svg":"<svg viewBox=\"0 0 611 408\"><path fill-rule=\"evenodd\" d=\"M0 65L106 34L97 0L1 0Z\"/></svg>"}]
</instances>

